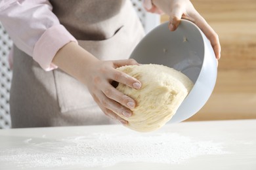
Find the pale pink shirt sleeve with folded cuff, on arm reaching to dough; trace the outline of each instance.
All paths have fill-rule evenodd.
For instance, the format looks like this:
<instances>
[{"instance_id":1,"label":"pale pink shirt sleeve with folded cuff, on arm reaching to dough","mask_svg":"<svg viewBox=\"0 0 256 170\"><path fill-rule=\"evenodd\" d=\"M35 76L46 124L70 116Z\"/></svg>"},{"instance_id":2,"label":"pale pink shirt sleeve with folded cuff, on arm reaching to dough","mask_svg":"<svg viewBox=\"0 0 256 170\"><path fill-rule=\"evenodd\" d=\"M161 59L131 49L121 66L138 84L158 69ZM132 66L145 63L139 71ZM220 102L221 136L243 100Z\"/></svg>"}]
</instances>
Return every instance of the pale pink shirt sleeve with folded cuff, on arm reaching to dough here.
<instances>
[{"instance_id":1,"label":"pale pink shirt sleeve with folded cuff, on arm reaching to dough","mask_svg":"<svg viewBox=\"0 0 256 170\"><path fill-rule=\"evenodd\" d=\"M45 71L56 68L52 61L62 46L77 42L52 9L47 0L0 1L0 21L12 41Z\"/></svg>"}]
</instances>

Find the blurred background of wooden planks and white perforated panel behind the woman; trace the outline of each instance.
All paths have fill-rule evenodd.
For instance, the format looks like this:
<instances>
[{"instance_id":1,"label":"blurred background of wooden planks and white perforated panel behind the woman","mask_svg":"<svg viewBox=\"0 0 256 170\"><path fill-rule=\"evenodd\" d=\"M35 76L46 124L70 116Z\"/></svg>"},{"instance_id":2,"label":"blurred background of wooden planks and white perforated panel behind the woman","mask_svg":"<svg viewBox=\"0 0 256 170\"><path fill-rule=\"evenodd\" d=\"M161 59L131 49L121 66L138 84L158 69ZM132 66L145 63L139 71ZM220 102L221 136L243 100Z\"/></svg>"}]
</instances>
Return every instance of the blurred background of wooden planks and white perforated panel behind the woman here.
<instances>
[{"instance_id":1,"label":"blurred background of wooden planks and white perforated panel behind the woman","mask_svg":"<svg viewBox=\"0 0 256 170\"><path fill-rule=\"evenodd\" d=\"M148 14L141 0L131 0L146 32L169 17ZM205 106L186 121L256 118L256 1L191 0L221 41L217 84ZM12 41L0 24L0 129L11 127L7 56Z\"/></svg>"}]
</instances>

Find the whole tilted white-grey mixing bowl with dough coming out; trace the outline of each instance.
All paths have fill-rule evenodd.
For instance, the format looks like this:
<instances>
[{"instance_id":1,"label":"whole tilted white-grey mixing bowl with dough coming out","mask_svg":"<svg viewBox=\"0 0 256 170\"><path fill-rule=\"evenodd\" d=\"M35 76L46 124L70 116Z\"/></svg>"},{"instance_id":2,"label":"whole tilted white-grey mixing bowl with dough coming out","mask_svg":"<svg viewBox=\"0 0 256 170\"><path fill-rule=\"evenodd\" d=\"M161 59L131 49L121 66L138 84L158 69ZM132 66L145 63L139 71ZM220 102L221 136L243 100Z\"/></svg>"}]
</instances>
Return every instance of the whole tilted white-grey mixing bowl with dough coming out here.
<instances>
[{"instance_id":1,"label":"whole tilted white-grey mixing bowl with dough coming out","mask_svg":"<svg viewBox=\"0 0 256 170\"><path fill-rule=\"evenodd\" d=\"M181 71L194 87L169 122L190 118L209 99L217 78L217 61L209 40L192 22L181 20L175 31L168 22L148 33L133 50L130 58L139 63L155 63Z\"/></svg>"}]
</instances>

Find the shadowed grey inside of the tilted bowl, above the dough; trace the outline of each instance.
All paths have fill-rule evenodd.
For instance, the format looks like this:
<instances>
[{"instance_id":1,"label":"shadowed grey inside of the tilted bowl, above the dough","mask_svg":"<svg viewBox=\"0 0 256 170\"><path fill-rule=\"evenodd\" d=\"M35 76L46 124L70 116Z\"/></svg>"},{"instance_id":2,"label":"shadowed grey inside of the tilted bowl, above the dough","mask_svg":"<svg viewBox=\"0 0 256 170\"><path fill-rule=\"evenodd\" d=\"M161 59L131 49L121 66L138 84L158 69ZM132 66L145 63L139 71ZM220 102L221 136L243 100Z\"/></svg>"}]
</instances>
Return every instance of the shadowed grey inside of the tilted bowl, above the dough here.
<instances>
[{"instance_id":1,"label":"shadowed grey inside of the tilted bowl, above the dough","mask_svg":"<svg viewBox=\"0 0 256 170\"><path fill-rule=\"evenodd\" d=\"M173 32L169 31L166 22L148 33L130 58L142 64L155 63L174 68L196 83L204 58L202 35L184 20Z\"/></svg>"}]
</instances>

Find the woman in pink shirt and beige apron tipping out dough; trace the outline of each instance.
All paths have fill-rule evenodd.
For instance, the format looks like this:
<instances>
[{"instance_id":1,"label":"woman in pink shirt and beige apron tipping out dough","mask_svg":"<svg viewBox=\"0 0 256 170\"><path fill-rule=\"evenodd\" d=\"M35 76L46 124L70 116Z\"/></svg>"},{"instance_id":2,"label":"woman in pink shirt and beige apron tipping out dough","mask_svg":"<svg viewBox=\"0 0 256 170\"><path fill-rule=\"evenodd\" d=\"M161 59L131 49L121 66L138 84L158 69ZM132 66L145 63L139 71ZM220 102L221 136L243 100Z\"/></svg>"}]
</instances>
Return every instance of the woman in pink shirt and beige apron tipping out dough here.
<instances>
[{"instance_id":1,"label":"woman in pink shirt and beige apron tipping out dough","mask_svg":"<svg viewBox=\"0 0 256 170\"><path fill-rule=\"evenodd\" d=\"M220 58L217 34L190 1L144 1L144 7L169 14L170 31L181 18L194 22ZM138 64L127 58L144 35L129 0L4 0L0 21L14 42L12 127L129 123L118 115L132 116L136 101L111 84L141 86L115 69Z\"/></svg>"}]
</instances>

